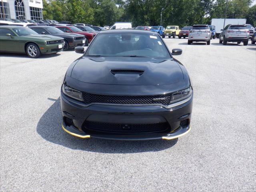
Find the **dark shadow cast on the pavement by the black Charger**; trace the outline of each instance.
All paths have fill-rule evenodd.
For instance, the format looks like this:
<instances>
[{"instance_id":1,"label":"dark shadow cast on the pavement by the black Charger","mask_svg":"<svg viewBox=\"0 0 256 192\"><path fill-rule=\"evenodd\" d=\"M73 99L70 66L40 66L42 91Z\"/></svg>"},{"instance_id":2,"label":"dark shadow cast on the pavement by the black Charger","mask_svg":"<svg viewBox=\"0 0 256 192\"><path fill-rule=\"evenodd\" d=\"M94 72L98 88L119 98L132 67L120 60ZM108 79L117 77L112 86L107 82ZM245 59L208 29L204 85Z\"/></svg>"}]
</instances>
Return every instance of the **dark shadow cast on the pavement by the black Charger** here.
<instances>
[{"instance_id":1,"label":"dark shadow cast on the pavement by the black Charger","mask_svg":"<svg viewBox=\"0 0 256 192\"><path fill-rule=\"evenodd\" d=\"M37 124L37 132L45 140L64 147L100 153L139 153L156 152L174 146L178 139L174 140L147 140L147 141L116 141L101 139L81 139L74 137L62 130L62 115L60 110L60 98L55 101L43 114Z\"/></svg>"}]
</instances>

